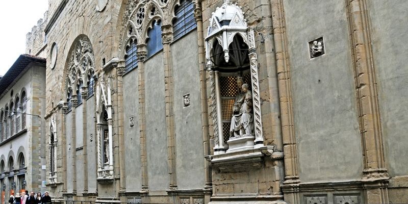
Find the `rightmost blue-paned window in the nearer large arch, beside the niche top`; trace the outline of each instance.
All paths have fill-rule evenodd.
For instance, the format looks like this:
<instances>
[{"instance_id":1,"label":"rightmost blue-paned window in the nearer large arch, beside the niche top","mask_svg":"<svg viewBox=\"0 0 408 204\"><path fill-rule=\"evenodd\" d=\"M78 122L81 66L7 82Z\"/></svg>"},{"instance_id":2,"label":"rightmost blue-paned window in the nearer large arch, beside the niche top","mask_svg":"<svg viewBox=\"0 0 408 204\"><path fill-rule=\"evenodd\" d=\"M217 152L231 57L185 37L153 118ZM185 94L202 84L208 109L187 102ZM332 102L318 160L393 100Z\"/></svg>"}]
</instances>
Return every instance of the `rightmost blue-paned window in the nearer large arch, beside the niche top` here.
<instances>
[{"instance_id":1,"label":"rightmost blue-paned window in the nearer large arch, beside the niche top","mask_svg":"<svg viewBox=\"0 0 408 204\"><path fill-rule=\"evenodd\" d=\"M194 4L191 0L181 0L174 10L173 38L179 39L197 27L194 19Z\"/></svg>"}]
</instances>

